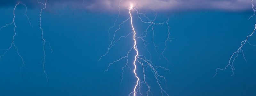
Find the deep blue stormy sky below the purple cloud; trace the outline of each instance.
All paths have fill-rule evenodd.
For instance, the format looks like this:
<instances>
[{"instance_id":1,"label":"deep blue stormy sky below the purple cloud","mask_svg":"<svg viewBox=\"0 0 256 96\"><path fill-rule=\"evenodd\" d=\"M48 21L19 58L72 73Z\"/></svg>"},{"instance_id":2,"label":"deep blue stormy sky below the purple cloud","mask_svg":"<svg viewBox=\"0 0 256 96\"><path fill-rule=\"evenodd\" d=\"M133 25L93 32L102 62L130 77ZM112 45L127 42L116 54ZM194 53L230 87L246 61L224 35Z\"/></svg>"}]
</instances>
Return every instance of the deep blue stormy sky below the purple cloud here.
<instances>
[{"instance_id":1,"label":"deep blue stormy sky below the purple cloud","mask_svg":"<svg viewBox=\"0 0 256 96\"><path fill-rule=\"evenodd\" d=\"M0 8L0 26L12 22L13 7L14 5ZM44 39L51 43L53 49L51 53L47 46L45 48L48 82L45 76L42 76L41 60L44 56L39 28L40 10L33 8L27 12L34 28L30 27L27 18L23 16L24 12L22 5L15 11L17 35L14 41L28 70L20 71L22 61L14 47L7 52L0 61L2 96L126 96L132 92L136 82L132 70L125 68L124 80L120 83L121 68L125 65L125 60L114 63L109 71L104 72L109 63L126 55L133 43L131 36L117 42L110 53L98 61L110 44L108 28L116 20L116 12L91 12L69 7L53 9L51 6L43 11ZM124 10L117 22L126 19L127 12L128 10ZM146 13L150 18L154 17L154 12ZM231 76L229 67L227 70L218 71L217 76L213 78L215 69L225 67L232 53L240 46L240 41L252 33L255 18L248 20L252 14L252 11L159 13L156 22L165 21L169 17L170 36L175 38L171 43L167 43L164 52L170 61L169 64L159 59L161 56L154 52L152 43L148 46L152 52L152 62L171 70L170 74L164 70L159 71L167 80L168 89L165 91L170 96L255 96L255 46L244 45L247 62L241 54L238 55L234 62L234 76ZM10 25L0 30L0 49L6 49L12 43L13 27ZM145 24L139 22L138 18L134 18L134 27L138 33L145 30ZM131 25L128 22L117 36L129 32ZM155 42L162 42L166 32L166 25L156 26ZM110 33L113 34L113 30ZM147 38L149 41L152 40L150 36L152 33ZM256 44L255 36L249 41ZM145 53L149 58L142 46L138 46L141 53ZM163 48L160 45L157 50L161 51ZM133 54L134 51L131 56ZM129 62L131 63L132 61ZM151 92L154 96L161 95L154 82Z\"/></svg>"}]
</instances>

